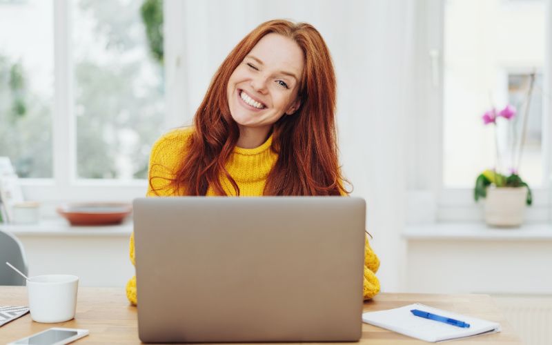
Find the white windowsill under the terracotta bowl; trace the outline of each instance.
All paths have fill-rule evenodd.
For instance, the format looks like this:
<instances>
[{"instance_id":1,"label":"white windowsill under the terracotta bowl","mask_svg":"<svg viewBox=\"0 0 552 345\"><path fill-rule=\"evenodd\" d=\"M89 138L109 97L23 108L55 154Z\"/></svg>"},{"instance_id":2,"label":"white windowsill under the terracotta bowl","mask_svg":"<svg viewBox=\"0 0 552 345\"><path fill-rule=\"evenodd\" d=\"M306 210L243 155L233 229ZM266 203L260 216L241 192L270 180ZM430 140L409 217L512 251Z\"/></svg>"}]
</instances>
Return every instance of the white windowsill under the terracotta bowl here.
<instances>
[{"instance_id":1,"label":"white windowsill under the terracotta bowl","mask_svg":"<svg viewBox=\"0 0 552 345\"><path fill-rule=\"evenodd\" d=\"M21 236L105 236L128 237L132 233L132 219L123 224L109 226L70 226L62 218L41 219L39 224L0 224L1 230L6 230L17 237Z\"/></svg>"}]
</instances>

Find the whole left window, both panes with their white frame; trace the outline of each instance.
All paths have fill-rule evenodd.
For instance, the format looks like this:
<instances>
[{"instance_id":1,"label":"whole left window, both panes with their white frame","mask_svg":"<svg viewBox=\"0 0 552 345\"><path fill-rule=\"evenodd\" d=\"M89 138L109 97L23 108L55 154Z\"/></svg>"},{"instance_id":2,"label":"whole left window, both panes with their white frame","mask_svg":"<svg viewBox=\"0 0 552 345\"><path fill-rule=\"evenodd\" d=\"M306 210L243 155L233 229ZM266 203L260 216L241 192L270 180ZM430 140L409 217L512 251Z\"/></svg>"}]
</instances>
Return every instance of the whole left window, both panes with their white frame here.
<instances>
[{"instance_id":1,"label":"whole left window, both panes with their white frame","mask_svg":"<svg viewBox=\"0 0 552 345\"><path fill-rule=\"evenodd\" d=\"M164 6L0 1L0 156L26 199L144 195L150 148L180 123L166 115Z\"/></svg>"}]
</instances>

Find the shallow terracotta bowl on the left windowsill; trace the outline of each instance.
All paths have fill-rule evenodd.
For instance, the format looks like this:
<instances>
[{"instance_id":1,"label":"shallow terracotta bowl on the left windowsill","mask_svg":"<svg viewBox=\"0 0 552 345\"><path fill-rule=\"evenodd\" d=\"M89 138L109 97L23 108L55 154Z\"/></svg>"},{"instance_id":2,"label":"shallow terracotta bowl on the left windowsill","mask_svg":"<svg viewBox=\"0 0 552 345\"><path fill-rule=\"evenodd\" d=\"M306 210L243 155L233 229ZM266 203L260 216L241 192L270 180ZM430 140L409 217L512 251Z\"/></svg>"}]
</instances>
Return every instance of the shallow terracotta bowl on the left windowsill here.
<instances>
[{"instance_id":1,"label":"shallow terracotta bowl on the left windowsill","mask_svg":"<svg viewBox=\"0 0 552 345\"><path fill-rule=\"evenodd\" d=\"M66 204L57 208L57 213L73 226L120 224L131 212L130 204L106 202Z\"/></svg>"}]
</instances>

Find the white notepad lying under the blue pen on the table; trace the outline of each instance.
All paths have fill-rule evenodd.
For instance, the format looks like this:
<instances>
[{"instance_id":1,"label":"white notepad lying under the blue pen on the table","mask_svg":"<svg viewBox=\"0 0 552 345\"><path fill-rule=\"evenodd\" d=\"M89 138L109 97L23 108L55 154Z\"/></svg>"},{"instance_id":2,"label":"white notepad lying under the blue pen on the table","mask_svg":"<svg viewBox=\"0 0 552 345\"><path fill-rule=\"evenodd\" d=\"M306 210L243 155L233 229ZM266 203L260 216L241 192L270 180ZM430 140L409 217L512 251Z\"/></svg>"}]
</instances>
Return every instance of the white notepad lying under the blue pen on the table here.
<instances>
[{"instance_id":1,"label":"white notepad lying under the blue pen on the table","mask_svg":"<svg viewBox=\"0 0 552 345\"><path fill-rule=\"evenodd\" d=\"M424 319L417 317L411 313L412 309L419 309L450 317L452 319L461 320L470 324L469 328L462 328L437 322L432 319ZM386 328L389 331L408 335L417 339L425 340L426 342L440 342L442 340L459 339L464 337L472 337L474 335L482 335L487 333L500 332L500 324L484 319L476 319L467 315L451 313L443 311L424 304L410 304L400 308L389 309L387 311L374 311L362 314L362 321L366 324Z\"/></svg>"}]
</instances>

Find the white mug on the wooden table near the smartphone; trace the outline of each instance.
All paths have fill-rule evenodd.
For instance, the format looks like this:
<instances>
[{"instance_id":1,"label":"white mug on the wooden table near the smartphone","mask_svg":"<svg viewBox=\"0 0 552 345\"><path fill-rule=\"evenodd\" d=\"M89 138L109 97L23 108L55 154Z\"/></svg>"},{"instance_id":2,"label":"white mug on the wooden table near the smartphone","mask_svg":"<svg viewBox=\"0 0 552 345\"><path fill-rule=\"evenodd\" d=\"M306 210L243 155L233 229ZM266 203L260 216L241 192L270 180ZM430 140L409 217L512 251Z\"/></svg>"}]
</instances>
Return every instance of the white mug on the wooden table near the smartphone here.
<instances>
[{"instance_id":1,"label":"white mug on the wooden table near the smartphone","mask_svg":"<svg viewBox=\"0 0 552 345\"><path fill-rule=\"evenodd\" d=\"M77 309L76 275L37 275L27 281L30 317L36 322L65 322Z\"/></svg>"}]
</instances>

